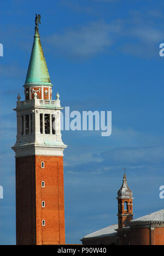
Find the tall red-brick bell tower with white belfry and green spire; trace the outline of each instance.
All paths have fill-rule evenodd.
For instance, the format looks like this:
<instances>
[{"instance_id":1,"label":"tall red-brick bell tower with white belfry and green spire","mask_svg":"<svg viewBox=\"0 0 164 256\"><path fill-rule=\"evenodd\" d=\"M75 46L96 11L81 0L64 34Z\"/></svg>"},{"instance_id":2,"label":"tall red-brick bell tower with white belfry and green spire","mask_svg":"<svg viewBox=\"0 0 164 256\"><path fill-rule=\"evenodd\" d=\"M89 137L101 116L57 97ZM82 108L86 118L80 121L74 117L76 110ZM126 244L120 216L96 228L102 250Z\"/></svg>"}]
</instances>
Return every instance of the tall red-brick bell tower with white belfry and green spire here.
<instances>
[{"instance_id":1,"label":"tall red-brick bell tower with white belfry and green spire","mask_svg":"<svg viewBox=\"0 0 164 256\"><path fill-rule=\"evenodd\" d=\"M52 100L36 15L25 100L17 96L16 244L65 244L63 150L60 95Z\"/></svg>"}]
</instances>

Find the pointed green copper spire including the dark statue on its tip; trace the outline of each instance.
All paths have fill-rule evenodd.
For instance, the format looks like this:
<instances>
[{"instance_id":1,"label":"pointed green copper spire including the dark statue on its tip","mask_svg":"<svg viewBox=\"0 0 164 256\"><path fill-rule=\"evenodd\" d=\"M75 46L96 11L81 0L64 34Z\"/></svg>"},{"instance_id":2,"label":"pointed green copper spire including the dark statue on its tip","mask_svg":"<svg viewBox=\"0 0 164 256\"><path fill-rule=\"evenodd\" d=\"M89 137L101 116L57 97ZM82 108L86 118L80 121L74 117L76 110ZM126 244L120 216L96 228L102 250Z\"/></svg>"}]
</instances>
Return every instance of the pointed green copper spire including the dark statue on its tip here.
<instances>
[{"instance_id":1,"label":"pointed green copper spire including the dark statue on its tip","mask_svg":"<svg viewBox=\"0 0 164 256\"><path fill-rule=\"evenodd\" d=\"M40 43L40 36L38 30L38 24L40 23L40 15L36 15L36 27L34 34L34 42L32 47L32 53L30 63L28 66L28 72L25 85L28 84L43 84L51 85L48 68L46 66L42 45Z\"/></svg>"}]
</instances>

